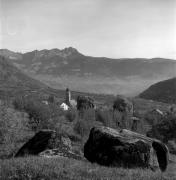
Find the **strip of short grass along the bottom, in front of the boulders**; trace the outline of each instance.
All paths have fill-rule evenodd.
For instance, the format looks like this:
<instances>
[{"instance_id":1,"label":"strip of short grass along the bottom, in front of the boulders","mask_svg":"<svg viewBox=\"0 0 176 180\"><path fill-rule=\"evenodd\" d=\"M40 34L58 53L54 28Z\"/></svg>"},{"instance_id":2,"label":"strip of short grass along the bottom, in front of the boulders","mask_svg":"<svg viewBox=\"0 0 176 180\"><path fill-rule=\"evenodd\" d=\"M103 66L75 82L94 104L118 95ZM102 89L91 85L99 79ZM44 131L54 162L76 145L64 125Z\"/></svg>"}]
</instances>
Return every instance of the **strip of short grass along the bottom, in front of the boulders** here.
<instances>
[{"instance_id":1,"label":"strip of short grass along the bottom, in front of the boulders","mask_svg":"<svg viewBox=\"0 0 176 180\"><path fill-rule=\"evenodd\" d=\"M172 166L173 167L173 166ZM108 168L67 158L0 160L0 180L174 180L172 172Z\"/></svg>"}]
</instances>

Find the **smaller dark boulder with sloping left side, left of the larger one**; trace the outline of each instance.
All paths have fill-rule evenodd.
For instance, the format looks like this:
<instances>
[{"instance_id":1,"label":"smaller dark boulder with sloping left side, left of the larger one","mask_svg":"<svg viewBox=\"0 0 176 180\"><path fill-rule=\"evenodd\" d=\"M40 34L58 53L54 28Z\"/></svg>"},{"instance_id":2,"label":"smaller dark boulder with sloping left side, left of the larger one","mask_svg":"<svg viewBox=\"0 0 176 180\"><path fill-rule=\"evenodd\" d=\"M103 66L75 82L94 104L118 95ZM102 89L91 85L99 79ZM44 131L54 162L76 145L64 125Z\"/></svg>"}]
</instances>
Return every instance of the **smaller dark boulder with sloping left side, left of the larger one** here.
<instances>
[{"instance_id":1,"label":"smaller dark boulder with sloping left side, left of the larger one","mask_svg":"<svg viewBox=\"0 0 176 180\"><path fill-rule=\"evenodd\" d=\"M53 130L41 130L25 143L15 157L40 155L44 157L68 157L79 159L79 155L72 151L71 140Z\"/></svg>"}]
</instances>

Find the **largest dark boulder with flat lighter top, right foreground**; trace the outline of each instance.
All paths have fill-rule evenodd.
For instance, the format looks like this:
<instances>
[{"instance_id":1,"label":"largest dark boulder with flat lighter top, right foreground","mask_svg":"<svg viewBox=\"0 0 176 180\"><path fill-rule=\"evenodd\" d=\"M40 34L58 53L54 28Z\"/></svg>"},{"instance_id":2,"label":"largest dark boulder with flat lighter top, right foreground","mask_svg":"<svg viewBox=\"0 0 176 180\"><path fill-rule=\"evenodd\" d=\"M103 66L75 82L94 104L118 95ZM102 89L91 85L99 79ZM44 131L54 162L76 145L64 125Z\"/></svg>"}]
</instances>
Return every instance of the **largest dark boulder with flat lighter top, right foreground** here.
<instances>
[{"instance_id":1,"label":"largest dark boulder with flat lighter top, right foreground","mask_svg":"<svg viewBox=\"0 0 176 180\"><path fill-rule=\"evenodd\" d=\"M165 171L168 148L162 142L144 135L109 127L94 127L84 145L84 156L90 162L105 166L153 168Z\"/></svg>"}]
</instances>

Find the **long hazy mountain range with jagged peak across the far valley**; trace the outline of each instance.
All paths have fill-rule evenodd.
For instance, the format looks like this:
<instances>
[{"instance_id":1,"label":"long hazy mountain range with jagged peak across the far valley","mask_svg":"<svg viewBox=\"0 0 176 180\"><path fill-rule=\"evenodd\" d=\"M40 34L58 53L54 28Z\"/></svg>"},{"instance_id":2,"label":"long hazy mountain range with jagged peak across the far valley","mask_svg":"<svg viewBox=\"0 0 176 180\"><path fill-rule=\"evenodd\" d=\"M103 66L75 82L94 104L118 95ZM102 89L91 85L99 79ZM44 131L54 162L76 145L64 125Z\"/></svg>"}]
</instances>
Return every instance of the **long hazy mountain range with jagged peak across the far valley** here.
<instances>
[{"instance_id":1,"label":"long hazy mountain range with jagged peak across the far valley","mask_svg":"<svg viewBox=\"0 0 176 180\"><path fill-rule=\"evenodd\" d=\"M0 55L54 88L69 86L91 93L137 95L157 81L174 77L176 72L176 61L170 59L91 57L72 47L27 53L1 49Z\"/></svg>"}]
</instances>

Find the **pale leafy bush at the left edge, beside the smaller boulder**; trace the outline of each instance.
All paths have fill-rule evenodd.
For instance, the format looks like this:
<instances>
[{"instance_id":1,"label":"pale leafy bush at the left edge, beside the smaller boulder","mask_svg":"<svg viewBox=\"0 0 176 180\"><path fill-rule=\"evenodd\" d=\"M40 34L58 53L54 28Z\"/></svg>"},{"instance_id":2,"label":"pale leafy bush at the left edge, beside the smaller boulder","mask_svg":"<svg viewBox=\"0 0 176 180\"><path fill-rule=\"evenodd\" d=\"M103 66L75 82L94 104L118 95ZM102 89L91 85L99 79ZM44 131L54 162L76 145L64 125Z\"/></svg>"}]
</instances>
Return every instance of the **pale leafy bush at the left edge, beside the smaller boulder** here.
<instances>
[{"instance_id":1,"label":"pale leafy bush at the left edge, beside the smaller boulder","mask_svg":"<svg viewBox=\"0 0 176 180\"><path fill-rule=\"evenodd\" d=\"M8 106L0 106L0 158L12 156L33 133L27 126L28 116Z\"/></svg>"}]
</instances>

